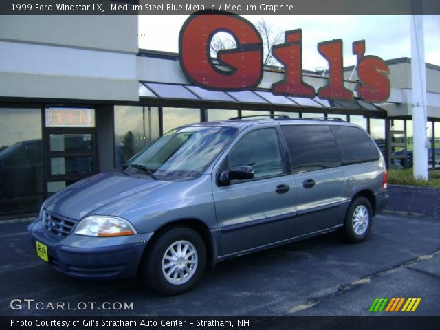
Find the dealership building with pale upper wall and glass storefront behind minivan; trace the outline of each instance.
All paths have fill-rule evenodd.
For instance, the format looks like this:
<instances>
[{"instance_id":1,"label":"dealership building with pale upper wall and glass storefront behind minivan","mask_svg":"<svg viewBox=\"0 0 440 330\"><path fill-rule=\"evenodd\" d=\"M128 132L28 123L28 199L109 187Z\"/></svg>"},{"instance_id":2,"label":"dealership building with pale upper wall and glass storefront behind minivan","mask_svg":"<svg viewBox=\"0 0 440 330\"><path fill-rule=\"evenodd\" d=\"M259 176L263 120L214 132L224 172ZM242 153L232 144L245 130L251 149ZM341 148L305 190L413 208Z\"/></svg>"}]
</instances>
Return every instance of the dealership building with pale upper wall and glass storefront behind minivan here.
<instances>
[{"instance_id":1,"label":"dealership building with pale upper wall and glass storefront behind minivan","mask_svg":"<svg viewBox=\"0 0 440 330\"><path fill-rule=\"evenodd\" d=\"M368 131L388 168L412 166L410 58L386 61L391 94L364 102L276 96L282 68L243 91L194 85L178 54L139 50L136 16L0 17L0 218L35 212L45 198L126 162L190 122L246 115L341 118ZM316 90L326 72L303 72ZM440 67L426 63L428 167L440 169Z\"/></svg>"}]
</instances>

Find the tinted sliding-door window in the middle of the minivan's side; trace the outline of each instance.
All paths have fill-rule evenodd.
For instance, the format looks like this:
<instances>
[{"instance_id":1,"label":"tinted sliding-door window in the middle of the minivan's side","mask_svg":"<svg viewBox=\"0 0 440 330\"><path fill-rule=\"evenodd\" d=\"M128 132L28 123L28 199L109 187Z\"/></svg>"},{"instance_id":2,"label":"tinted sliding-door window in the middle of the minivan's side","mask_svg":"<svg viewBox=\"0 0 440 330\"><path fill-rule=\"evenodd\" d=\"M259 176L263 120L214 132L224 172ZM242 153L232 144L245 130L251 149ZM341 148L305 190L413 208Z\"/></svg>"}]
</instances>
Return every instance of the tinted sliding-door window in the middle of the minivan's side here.
<instances>
[{"instance_id":1,"label":"tinted sliding-door window in the middle of the minivan's side","mask_svg":"<svg viewBox=\"0 0 440 330\"><path fill-rule=\"evenodd\" d=\"M287 140L294 173L341 165L335 137L327 125L281 126Z\"/></svg>"}]
</instances>

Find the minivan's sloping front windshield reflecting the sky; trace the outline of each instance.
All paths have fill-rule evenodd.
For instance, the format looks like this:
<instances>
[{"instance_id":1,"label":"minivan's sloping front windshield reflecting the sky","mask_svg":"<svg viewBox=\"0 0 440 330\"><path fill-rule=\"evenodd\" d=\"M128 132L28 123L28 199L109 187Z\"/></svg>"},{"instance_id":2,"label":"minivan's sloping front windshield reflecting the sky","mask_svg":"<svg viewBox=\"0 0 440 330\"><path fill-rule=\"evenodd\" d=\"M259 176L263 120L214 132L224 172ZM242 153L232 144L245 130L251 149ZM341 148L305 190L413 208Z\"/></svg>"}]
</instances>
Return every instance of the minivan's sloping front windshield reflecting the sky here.
<instances>
[{"instance_id":1,"label":"minivan's sloping front windshield reflecting the sky","mask_svg":"<svg viewBox=\"0 0 440 330\"><path fill-rule=\"evenodd\" d=\"M159 179L192 179L203 173L235 132L226 127L173 129L137 153L127 165L142 166Z\"/></svg>"}]
</instances>

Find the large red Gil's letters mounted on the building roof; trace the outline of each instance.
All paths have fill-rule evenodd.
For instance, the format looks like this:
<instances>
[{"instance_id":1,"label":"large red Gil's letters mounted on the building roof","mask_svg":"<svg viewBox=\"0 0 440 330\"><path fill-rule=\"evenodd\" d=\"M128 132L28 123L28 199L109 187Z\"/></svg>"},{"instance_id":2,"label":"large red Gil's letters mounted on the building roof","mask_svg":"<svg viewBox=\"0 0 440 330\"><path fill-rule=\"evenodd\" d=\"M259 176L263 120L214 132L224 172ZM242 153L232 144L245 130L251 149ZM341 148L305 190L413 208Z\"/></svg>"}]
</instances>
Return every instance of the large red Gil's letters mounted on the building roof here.
<instances>
[{"instance_id":1,"label":"large red Gil's letters mounted on the building roof","mask_svg":"<svg viewBox=\"0 0 440 330\"><path fill-rule=\"evenodd\" d=\"M210 56L210 43L217 32L234 36L237 47L219 50L219 69ZM342 40L318 43L318 52L329 63L329 82L318 89L327 100L353 100L353 92L344 87ZM263 78L263 41L250 21L234 14L192 14L179 35L179 61L187 78L195 85L211 90L244 91L259 85ZM285 79L272 85L272 93L283 96L314 98L315 89L303 81L302 30L285 32L285 42L272 47L272 54L285 67ZM384 102L390 96L388 65L377 56L364 56L365 41L353 43L358 56L358 97L370 102Z\"/></svg>"}]
</instances>

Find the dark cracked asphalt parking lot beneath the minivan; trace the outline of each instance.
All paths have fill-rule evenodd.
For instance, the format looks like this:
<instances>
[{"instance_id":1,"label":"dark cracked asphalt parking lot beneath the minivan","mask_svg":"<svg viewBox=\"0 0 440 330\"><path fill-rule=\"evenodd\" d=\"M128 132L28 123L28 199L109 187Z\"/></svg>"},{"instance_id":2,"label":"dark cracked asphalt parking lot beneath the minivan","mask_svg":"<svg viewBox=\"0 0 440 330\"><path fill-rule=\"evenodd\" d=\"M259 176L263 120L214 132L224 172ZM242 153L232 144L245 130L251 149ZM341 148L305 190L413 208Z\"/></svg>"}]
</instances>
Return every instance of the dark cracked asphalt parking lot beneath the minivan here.
<instances>
[{"instance_id":1,"label":"dark cracked asphalt parking lot beneath the minivan","mask_svg":"<svg viewBox=\"0 0 440 330\"><path fill-rule=\"evenodd\" d=\"M371 315L375 298L393 297L421 298L412 315L440 315L440 219L380 214L364 243L344 243L333 232L230 259L208 270L192 292L175 297L157 296L139 280L60 274L36 256L27 225L0 224L1 315L358 316ZM14 299L34 303L12 309ZM65 309L46 308L57 302ZM72 309L80 302L96 305ZM133 308L104 310L104 302Z\"/></svg>"}]
</instances>

